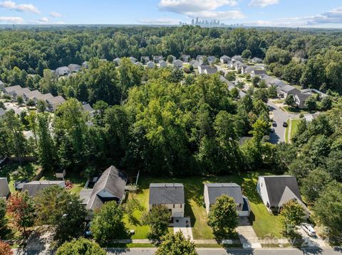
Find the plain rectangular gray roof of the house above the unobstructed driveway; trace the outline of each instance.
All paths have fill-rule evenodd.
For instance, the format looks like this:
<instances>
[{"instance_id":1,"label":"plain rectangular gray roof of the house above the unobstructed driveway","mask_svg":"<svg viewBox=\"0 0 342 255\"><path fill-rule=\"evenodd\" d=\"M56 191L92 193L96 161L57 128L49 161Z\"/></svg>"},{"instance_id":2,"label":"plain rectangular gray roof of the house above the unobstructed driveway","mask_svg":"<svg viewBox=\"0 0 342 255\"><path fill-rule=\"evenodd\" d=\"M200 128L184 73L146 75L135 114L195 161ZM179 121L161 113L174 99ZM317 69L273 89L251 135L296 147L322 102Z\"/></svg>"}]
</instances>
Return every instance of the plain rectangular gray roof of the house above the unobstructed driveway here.
<instances>
[{"instance_id":1,"label":"plain rectangular gray roof of the house above the unobstructed driveway","mask_svg":"<svg viewBox=\"0 0 342 255\"><path fill-rule=\"evenodd\" d=\"M185 204L182 183L151 183L150 205Z\"/></svg>"}]
</instances>

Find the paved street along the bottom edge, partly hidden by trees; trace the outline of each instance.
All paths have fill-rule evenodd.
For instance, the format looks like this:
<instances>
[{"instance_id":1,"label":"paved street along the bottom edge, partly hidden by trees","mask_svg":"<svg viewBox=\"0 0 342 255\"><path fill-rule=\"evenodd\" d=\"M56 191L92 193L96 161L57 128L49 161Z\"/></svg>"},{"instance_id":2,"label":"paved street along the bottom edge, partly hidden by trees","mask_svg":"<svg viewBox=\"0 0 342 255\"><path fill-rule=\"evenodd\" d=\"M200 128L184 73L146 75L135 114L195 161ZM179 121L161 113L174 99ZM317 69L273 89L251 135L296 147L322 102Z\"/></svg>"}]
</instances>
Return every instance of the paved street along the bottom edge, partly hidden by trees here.
<instances>
[{"instance_id":1,"label":"paved street along the bottom edge, partly hidden by trees","mask_svg":"<svg viewBox=\"0 0 342 255\"><path fill-rule=\"evenodd\" d=\"M341 255L341 249L197 249L199 255L303 255L303 254L326 254L326 255ZM108 254L125 254L125 255L153 255L155 249L113 249Z\"/></svg>"}]
</instances>

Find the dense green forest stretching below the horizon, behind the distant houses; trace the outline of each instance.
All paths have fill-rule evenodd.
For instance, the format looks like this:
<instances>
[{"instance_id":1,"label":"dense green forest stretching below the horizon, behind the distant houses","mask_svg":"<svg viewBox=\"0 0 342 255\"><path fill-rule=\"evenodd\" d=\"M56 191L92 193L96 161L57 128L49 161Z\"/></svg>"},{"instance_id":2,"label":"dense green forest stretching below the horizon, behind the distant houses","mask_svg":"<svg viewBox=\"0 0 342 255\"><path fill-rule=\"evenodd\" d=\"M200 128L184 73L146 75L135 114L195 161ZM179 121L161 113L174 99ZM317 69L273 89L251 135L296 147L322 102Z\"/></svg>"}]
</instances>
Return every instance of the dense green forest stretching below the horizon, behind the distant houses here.
<instances>
[{"instance_id":1,"label":"dense green forest stretching below the horizon, behind the distant houses","mask_svg":"<svg viewBox=\"0 0 342 255\"><path fill-rule=\"evenodd\" d=\"M198 26L6 30L0 31L0 79L33 87L44 69L91 58L244 55L264 58L274 75L291 84L342 92L341 45L341 32L323 30ZM32 77L34 74L39 76Z\"/></svg>"}]
</instances>

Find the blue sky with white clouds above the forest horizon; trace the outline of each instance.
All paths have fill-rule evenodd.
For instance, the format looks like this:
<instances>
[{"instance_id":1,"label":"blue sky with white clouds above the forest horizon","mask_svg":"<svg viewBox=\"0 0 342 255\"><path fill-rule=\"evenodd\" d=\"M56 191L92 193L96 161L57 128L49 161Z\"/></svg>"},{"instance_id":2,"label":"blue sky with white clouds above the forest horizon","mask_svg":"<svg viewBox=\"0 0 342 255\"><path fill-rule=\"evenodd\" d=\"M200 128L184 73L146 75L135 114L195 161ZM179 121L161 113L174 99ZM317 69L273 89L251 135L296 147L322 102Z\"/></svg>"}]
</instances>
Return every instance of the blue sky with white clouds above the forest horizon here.
<instances>
[{"instance_id":1,"label":"blue sky with white clouds above the forest horizon","mask_svg":"<svg viewBox=\"0 0 342 255\"><path fill-rule=\"evenodd\" d=\"M0 0L0 23L155 24L192 18L245 26L342 28L342 0Z\"/></svg>"}]
</instances>

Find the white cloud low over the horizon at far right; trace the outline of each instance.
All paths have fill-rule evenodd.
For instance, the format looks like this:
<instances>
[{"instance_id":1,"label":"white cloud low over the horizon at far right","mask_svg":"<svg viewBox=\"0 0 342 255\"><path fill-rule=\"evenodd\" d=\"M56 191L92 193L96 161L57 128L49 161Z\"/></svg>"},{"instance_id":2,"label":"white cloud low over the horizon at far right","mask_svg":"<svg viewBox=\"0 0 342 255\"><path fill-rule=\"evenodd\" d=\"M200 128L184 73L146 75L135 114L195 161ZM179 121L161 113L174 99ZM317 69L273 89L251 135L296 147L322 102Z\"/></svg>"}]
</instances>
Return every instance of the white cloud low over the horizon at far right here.
<instances>
[{"instance_id":1,"label":"white cloud low over the horizon at far right","mask_svg":"<svg viewBox=\"0 0 342 255\"><path fill-rule=\"evenodd\" d=\"M315 16L306 17L289 17L289 18L278 18L271 21L252 21L245 23L250 26L284 26L284 27L295 27L295 26L327 26L327 24L333 26L341 26L342 24L342 7L326 11Z\"/></svg>"}]
</instances>

